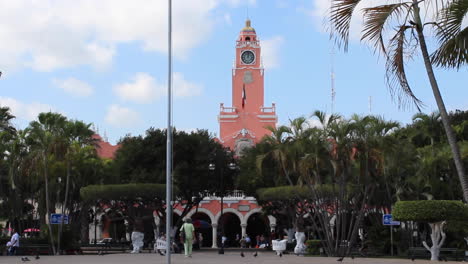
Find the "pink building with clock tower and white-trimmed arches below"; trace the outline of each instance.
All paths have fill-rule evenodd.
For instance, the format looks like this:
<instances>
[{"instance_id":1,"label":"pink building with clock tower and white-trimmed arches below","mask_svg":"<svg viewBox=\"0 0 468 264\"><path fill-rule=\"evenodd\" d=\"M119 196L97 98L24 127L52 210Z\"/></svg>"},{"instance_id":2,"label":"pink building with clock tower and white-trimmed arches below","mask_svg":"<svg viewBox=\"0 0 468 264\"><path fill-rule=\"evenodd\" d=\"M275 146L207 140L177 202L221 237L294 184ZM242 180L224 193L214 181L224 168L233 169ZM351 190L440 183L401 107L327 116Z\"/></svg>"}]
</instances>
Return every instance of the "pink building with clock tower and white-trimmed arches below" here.
<instances>
[{"instance_id":1,"label":"pink building with clock tower and white-trimmed arches below","mask_svg":"<svg viewBox=\"0 0 468 264\"><path fill-rule=\"evenodd\" d=\"M236 156L242 151L254 146L265 135L271 134L268 126L275 127L278 120L275 105L264 105L264 75L261 61L260 40L255 29L247 20L245 27L236 40L235 64L232 69L232 106L220 106L218 121L220 125L219 141L235 151ZM219 243L223 226L228 238L228 245L235 245L236 236L249 235L255 241L257 235L269 235L276 227L273 216L265 217L262 208L254 197L246 197L241 191L235 191L225 196L221 216L220 197L205 197L199 207L193 209L188 217L197 223L201 220L209 223L210 228L200 228L204 236L203 246L216 248ZM182 213L182 207L175 214ZM195 225L197 226L197 225ZM207 243L208 242L208 243Z\"/></svg>"}]
</instances>

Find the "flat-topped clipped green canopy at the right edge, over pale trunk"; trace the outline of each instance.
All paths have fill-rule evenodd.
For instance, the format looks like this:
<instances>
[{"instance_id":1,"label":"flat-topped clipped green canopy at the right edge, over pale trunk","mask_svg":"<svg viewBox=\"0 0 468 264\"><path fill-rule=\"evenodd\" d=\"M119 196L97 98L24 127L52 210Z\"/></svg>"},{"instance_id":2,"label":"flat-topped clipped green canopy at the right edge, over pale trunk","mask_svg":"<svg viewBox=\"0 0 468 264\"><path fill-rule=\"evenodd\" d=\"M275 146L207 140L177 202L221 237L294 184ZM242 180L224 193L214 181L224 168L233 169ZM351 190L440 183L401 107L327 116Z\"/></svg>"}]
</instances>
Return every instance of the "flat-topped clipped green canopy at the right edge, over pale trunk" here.
<instances>
[{"instance_id":1,"label":"flat-topped clipped green canopy at the right edge, over pale trunk","mask_svg":"<svg viewBox=\"0 0 468 264\"><path fill-rule=\"evenodd\" d=\"M460 201L400 201L392 211L396 220L435 223L468 218L468 206Z\"/></svg>"}]
</instances>

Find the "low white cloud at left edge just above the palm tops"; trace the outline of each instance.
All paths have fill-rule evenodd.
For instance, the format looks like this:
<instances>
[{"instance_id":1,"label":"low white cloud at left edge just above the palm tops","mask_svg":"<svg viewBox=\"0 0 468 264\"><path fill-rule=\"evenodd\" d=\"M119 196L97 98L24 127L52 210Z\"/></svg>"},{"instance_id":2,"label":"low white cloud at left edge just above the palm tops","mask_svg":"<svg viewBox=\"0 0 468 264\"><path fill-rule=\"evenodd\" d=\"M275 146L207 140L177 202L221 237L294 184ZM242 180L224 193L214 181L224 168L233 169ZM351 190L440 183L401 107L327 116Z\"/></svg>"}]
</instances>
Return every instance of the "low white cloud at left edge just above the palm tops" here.
<instances>
[{"instance_id":1,"label":"low white cloud at left edge just above the palm tops","mask_svg":"<svg viewBox=\"0 0 468 264\"><path fill-rule=\"evenodd\" d=\"M32 121L43 112L57 112L52 106L38 102L24 103L11 97L0 97L0 105L8 106L11 113L18 119Z\"/></svg>"}]
</instances>

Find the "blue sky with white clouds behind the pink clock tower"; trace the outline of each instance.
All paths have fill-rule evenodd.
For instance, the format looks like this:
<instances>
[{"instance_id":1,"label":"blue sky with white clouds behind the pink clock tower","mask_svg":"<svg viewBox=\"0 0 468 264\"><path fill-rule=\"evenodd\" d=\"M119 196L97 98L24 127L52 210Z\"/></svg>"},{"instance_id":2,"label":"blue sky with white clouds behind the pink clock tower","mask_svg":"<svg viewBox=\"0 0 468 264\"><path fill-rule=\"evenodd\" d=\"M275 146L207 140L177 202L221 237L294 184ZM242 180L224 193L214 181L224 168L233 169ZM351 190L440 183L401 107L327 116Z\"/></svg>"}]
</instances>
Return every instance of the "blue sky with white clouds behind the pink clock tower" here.
<instances>
[{"instance_id":1,"label":"blue sky with white clouds behind the pink clock tower","mask_svg":"<svg viewBox=\"0 0 468 264\"><path fill-rule=\"evenodd\" d=\"M352 29L348 53L332 49L324 23L328 0L173 5L173 122L179 130L219 134L219 103L231 103L234 45L247 13L262 45L265 106L276 103L279 124L314 110L330 112L331 61L335 112L402 123L415 114L392 102L384 61L359 42L359 26ZM166 127L166 0L0 0L0 6L0 104L12 108L18 128L49 110L93 123L112 143ZM412 88L424 112L434 111L421 58L415 60L407 65ZM436 69L436 77L447 108L466 110L468 67Z\"/></svg>"}]
</instances>

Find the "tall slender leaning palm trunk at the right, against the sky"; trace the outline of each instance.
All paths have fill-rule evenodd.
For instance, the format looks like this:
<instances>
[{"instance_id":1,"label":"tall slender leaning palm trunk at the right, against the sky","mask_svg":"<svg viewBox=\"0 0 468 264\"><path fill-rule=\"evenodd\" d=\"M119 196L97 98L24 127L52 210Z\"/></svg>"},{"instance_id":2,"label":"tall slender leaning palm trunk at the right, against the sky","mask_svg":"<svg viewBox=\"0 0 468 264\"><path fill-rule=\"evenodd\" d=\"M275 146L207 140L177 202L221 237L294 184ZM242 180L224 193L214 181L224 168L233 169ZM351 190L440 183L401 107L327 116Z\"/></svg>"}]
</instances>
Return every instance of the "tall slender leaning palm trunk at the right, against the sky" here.
<instances>
[{"instance_id":1,"label":"tall slender leaning palm trunk at the right, against the sky","mask_svg":"<svg viewBox=\"0 0 468 264\"><path fill-rule=\"evenodd\" d=\"M439 85L434 75L432 69L432 64L429 59L429 52L427 51L426 39L423 34L423 25L421 22L421 17L419 14L418 1L413 0L413 10L414 10L414 19L416 20L416 31L418 33L419 46L421 47L421 52L424 59L424 65L426 66L427 76L429 77L429 82L431 83L432 92L434 93L434 98L437 102L437 107L439 108L440 117L442 119L442 124L444 125L445 133L447 134L447 139L452 150L453 160L455 162L455 167L457 169L458 178L463 190L463 199L465 203L468 203L468 179L465 175L465 168L463 165L463 160L460 155L460 149L457 144L457 139L453 131L452 126L450 125L449 116L447 110L445 109L445 104L440 94Z\"/></svg>"}]
</instances>

